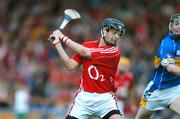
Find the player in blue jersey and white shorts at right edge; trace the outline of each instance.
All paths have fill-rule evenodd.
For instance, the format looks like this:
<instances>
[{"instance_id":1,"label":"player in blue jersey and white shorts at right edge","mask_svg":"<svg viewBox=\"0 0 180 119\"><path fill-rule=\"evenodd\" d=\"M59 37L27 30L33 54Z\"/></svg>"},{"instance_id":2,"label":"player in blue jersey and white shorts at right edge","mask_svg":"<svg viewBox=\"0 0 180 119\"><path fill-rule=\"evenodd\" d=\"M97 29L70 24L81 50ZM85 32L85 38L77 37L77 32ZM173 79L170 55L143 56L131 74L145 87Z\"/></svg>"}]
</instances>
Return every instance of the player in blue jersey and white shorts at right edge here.
<instances>
[{"instance_id":1,"label":"player in blue jersey and white shorts at right edge","mask_svg":"<svg viewBox=\"0 0 180 119\"><path fill-rule=\"evenodd\" d=\"M149 119L154 111L169 108L180 115L180 14L170 17L169 32L155 56L152 80L141 99L136 119Z\"/></svg>"}]
</instances>

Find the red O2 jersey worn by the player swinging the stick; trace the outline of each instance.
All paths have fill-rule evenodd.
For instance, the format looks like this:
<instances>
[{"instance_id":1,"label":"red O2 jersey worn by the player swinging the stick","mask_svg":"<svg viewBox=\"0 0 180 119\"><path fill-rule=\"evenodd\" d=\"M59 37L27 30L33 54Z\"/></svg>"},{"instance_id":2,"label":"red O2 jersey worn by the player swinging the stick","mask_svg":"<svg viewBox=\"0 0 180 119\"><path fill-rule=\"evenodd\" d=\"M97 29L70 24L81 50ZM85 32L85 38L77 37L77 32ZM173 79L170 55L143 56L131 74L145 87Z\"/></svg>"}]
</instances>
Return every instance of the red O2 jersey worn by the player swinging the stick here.
<instances>
[{"instance_id":1,"label":"red O2 jersey worn by the player swinging the stick","mask_svg":"<svg viewBox=\"0 0 180 119\"><path fill-rule=\"evenodd\" d=\"M72 58L83 65L80 88L91 93L113 92L114 77L120 58L118 47L98 47L99 40L85 42L83 46L91 48L91 58L75 54Z\"/></svg>"}]
</instances>

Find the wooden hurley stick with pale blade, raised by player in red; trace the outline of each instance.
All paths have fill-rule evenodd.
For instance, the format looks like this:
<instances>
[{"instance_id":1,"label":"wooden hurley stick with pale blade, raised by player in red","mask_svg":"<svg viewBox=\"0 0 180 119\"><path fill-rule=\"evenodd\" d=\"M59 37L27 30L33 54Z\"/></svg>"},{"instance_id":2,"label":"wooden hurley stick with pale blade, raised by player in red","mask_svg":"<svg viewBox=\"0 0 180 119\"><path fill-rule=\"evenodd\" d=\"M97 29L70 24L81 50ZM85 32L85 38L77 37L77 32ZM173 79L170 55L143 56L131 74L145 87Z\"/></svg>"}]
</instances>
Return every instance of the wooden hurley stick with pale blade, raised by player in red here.
<instances>
[{"instance_id":1,"label":"wooden hurley stick with pale blade, raised by player in red","mask_svg":"<svg viewBox=\"0 0 180 119\"><path fill-rule=\"evenodd\" d=\"M74 9L65 9L64 10L64 18L63 18L62 23L59 26L59 30L62 31L64 29L64 27L71 20L79 19L80 17L81 17L80 14L76 10L74 10ZM48 40L52 42L53 40L55 40L55 37L52 36Z\"/></svg>"}]
</instances>

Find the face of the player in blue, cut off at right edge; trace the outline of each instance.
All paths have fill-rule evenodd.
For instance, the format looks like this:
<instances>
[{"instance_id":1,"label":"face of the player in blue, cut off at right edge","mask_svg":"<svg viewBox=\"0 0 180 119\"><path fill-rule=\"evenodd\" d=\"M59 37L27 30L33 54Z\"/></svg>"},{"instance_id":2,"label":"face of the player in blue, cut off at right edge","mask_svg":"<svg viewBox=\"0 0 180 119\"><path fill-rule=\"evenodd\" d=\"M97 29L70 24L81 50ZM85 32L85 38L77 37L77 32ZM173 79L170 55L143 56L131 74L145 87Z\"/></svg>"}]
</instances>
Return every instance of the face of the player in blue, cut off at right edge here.
<instances>
[{"instance_id":1,"label":"face of the player in blue, cut off at right edge","mask_svg":"<svg viewBox=\"0 0 180 119\"><path fill-rule=\"evenodd\" d=\"M180 19L177 19L172 24L172 32L174 35L180 35Z\"/></svg>"}]
</instances>

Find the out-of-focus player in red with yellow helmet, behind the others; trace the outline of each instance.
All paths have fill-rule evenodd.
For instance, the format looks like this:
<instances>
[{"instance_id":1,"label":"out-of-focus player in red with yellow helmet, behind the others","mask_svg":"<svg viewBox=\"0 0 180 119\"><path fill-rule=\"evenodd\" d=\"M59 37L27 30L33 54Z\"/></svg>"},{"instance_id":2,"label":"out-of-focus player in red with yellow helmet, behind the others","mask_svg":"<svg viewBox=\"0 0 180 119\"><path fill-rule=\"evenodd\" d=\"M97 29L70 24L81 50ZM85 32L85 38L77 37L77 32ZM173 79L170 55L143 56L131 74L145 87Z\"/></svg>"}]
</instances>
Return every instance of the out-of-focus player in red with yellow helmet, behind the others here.
<instances>
[{"instance_id":1,"label":"out-of-focus player in red with yellow helmet, behind the others","mask_svg":"<svg viewBox=\"0 0 180 119\"><path fill-rule=\"evenodd\" d=\"M137 92L131 62L121 57L115 77L117 104L126 119L134 118L137 111Z\"/></svg>"}]
</instances>

